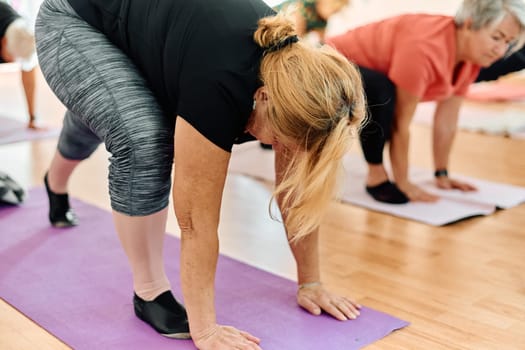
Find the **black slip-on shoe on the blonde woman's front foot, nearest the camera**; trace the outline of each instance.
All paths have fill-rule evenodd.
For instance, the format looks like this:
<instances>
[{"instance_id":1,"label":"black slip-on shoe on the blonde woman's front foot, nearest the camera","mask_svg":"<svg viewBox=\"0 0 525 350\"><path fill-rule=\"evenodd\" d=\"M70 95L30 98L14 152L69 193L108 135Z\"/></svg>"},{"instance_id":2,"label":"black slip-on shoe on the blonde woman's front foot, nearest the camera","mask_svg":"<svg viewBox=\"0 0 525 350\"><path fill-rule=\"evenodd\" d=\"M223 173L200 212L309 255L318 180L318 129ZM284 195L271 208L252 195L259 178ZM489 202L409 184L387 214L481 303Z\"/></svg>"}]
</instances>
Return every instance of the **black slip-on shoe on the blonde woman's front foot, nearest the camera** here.
<instances>
[{"instance_id":1,"label":"black slip-on shoe on the blonde woman's front foot, nearest the camera","mask_svg":"<svg viewBox=\"0 0 525 350\"><path fill-rule=\"evenodd\" d=\"M179 304L171 291L166 291L152 301L133 295L135 315L161 335L174 339L189 339L190 325L184 306Z\"/></svg>"}]
</instances>

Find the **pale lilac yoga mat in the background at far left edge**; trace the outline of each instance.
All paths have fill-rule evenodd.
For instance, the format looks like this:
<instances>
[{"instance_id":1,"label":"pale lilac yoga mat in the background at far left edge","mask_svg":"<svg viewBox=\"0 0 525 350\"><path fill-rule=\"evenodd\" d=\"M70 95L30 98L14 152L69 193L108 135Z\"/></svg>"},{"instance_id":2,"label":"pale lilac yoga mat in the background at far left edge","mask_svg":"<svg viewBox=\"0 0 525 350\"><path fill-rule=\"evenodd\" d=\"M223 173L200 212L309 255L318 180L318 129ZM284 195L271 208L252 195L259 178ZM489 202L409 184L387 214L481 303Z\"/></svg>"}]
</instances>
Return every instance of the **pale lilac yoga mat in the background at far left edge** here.
<instances>
[{"instance_id":1,"label":"pale lilac yoga mat in the background at far left edge","mask_svg":"<svg viewBox=\"0 0 525 350\"><path fill-rule=\"evenodd\" d=\"M60 134L59 128L42 130L28 129L26 123L19 120L0 117L0 145L8 143L31 141L56 137Z\"/></svg>"}]
</instances>

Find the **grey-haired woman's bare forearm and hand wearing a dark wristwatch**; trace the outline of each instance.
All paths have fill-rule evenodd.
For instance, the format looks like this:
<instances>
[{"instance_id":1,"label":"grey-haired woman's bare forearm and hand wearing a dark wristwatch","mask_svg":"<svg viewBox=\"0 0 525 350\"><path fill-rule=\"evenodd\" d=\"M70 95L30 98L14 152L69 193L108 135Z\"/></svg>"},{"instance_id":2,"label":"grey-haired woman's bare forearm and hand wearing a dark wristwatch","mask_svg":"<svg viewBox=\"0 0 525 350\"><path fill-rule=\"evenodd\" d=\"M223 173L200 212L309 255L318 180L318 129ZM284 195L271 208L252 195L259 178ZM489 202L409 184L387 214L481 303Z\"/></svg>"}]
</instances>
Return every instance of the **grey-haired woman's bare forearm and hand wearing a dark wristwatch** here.
<instances>
[{"instance_id":1,"label":"grey-haired woman's bare forearm and hand wearing a dark wristwatch","mask_svg":"<svg viewBox=\"0 0 525 350\"><path fill-rule=\"evenodd\" d=\"M449 156L456 136L459 110L462 102L462 97L452 96L437 105L434 114L432 135L434 166L436 170L448 169ZM458 188L463 191L475 190L474 186L452 180L448 176L437 178L436 183L438 187L445 189Z\"/></svg>"}]
</instances>

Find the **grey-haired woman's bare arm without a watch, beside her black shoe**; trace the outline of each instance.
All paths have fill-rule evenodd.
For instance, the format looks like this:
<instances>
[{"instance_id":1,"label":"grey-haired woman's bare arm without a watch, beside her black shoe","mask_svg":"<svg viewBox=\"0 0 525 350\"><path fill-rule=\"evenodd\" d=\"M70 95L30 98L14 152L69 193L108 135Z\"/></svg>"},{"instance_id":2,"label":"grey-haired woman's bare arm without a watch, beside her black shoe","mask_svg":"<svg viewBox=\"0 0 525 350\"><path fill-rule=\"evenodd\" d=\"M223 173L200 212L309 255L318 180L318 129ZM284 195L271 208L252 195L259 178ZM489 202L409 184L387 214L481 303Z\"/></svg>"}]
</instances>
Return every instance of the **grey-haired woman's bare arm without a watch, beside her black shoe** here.
<instances>
[{"instance_id":1,"label":"grey-haired woman's bare arm without a watch, beside her black shoe","mask_svg":"<svg viewBox=\"0 0 525 350\"><path fill-rule=\"evenodd\" d=\"M402 88L398 87L396 91L396 109L390 141L390 160L395 182L410 200L435 201L436 196L412 184L408 177L410 123L419 99Z\"/></svg>"}]
</instances>

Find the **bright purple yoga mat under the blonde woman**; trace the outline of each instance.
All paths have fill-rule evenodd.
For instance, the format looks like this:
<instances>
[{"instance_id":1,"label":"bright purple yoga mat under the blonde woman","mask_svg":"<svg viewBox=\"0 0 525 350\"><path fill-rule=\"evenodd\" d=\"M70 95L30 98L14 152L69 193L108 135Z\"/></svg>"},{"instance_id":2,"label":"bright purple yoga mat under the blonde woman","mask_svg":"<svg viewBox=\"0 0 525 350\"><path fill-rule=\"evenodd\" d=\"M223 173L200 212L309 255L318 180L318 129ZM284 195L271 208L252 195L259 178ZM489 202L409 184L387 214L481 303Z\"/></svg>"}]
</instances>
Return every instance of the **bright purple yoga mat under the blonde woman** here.
<instances>
[{"instance_id":1,"label":"bright purple yoga mat under the blonde woman","mask_svg":"<svg viewBox=\"0 0 525 350\"><path fill-rule=\"evenodd\" d=\"M20 207L0 208L0 297L74 349L195 349L137 319L126 257L111 214L73 200L78 227L47 221L43 189ZM179 240L167 236L165 258L180 298ZM217 317L262 339L265 350L358 349L407 322L364 308L355 321L311 316L297 306L295 283L221 256Z\"/></svg>"}]
</instances>

